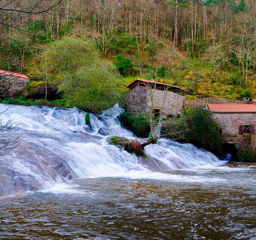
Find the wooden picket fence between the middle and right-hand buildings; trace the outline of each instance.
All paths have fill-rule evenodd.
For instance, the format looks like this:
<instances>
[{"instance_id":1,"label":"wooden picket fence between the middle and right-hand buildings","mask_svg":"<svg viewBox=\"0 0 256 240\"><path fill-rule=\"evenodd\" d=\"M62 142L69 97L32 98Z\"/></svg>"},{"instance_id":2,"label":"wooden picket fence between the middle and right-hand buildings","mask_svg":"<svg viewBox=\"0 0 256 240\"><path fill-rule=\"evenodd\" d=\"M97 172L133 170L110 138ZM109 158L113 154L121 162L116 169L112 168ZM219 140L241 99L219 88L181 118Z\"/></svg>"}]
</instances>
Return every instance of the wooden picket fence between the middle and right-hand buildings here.
<instances>
[{"instance_id":1,"label":"wooden picket fence between the middle and right-hand buildings","mask_svg":"<svg viewBox=\"0 0 256 240\"><path fill-rule=\"evenodd\" d=\"M230 98L196 98L184 101L184 107L205 107L207 104L247 104L246 101Z\"/></svg>"}]
</instances>

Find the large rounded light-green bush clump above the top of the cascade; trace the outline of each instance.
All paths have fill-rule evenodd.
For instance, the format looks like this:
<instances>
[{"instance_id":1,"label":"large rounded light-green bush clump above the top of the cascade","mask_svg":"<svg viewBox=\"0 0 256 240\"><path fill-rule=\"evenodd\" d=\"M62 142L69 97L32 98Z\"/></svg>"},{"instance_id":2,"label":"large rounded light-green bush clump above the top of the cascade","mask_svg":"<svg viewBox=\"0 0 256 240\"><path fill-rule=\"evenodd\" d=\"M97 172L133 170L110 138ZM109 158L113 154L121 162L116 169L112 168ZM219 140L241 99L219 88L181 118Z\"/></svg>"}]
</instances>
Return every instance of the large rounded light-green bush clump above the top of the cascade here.
<instances>
[{"instance_id":1,"label":"large rounded light-green bush clump above the top of the cascade","mask_svg":"<svg viewBox=\"0 0 256 240\"><path fill-rule=\"evenodd\" d=\"M72 107L99 114L121 103L126 91L116 85L120 78L117 68L99 59L93 43L64 38L52 43L46 51L47 66L62 97Z\"/></svg>"}]
</instances>

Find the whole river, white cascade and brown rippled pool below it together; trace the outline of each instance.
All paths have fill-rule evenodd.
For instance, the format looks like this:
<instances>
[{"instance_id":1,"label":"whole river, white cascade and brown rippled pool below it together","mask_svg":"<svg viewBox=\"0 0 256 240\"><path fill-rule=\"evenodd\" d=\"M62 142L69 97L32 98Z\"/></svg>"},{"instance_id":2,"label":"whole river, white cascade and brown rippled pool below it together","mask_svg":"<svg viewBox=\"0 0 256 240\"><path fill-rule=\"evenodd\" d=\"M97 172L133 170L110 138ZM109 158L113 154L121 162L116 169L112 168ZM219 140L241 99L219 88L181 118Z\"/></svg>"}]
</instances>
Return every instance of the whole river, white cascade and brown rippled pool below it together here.
<instances>
[{"instance_id":1,"label":"whole river, white cascade and brown rippled pool below it together","mask_svg":"<svg viewBox=\"0 0 256 240\"><path fill-rule=\"evenodd\" d=\"M7 107L22 141L0 163L0 239L256 239L255 164L163 139L152 170L98 134L135 138L118 105L89 126L75 108Z\"/></svg>"}]
</instances>

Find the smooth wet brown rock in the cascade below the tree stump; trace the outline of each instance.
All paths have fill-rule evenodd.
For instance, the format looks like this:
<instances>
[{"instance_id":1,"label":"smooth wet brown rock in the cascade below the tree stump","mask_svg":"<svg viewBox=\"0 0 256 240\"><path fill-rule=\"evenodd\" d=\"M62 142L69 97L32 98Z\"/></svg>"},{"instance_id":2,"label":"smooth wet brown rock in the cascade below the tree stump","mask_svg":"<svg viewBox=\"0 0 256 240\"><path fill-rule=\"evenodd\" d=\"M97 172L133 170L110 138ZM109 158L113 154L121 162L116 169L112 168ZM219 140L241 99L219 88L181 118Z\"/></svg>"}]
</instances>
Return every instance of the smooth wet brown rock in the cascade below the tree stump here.
<instances>
[{"instance_id":1,"label":"smooth wet brown rock in the cascade below the tree stump","mask_svg":"<svg viewBox=\"0 0 256 240\"><path fill-rule=\"evenodd\" d=\"M161 162L157 158L153 158L151 156L147 156L147 157L139 156L138 162L146 166L149 170L153 172L167 173L171 171L171 169L167 165L165 165L163 162Z\"/></svg>"}]
</instances>

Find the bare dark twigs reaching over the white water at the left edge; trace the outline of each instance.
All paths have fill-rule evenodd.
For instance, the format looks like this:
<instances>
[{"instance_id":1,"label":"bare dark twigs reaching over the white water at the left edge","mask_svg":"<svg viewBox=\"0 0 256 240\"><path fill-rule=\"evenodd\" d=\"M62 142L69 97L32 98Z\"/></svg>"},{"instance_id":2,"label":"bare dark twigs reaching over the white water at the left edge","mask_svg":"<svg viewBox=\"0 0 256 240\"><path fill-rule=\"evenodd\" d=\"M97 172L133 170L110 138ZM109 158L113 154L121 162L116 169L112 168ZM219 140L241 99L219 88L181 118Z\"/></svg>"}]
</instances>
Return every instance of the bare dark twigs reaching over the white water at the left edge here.
<instances>
[{"instance_id":1,"label":"bare dark twigs reaching over the white water at the left edge","mask_svg":"<svg viewBox=\"0 0 256 240\"><path fill-rule=\"evenodd\" d=\"M0 116L7 110L0 113ZM20 144L21 136L18 135L17 137L10 138L9 133L16 133L20 129L20 127L14 125L13 119L11 118L8 119L5 124L2 123L2 120L3 119L0 119L0 157L9 155L10 152Z\"/></svg>"}]
</instances>

